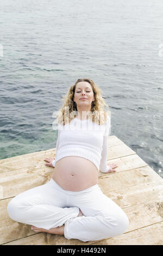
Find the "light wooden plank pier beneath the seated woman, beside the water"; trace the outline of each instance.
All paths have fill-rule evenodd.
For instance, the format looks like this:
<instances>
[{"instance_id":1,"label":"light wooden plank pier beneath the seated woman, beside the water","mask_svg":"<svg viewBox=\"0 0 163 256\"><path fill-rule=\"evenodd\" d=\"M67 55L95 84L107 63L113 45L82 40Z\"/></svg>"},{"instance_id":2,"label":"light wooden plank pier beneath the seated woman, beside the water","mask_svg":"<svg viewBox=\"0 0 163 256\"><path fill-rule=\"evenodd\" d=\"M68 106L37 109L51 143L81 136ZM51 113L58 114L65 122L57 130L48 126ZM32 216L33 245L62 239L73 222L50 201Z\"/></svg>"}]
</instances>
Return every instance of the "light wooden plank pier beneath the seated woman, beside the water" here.
<instances>
[{"instance_id":1,"label":"light wooden plank pier beneath the seated woman, beside the water","mask_svg":"<svg viewBox=\"0 0 163 256\"><path fill-rule=\"evenodd\" d=\"M67 240L11 220L10 200L51 179L54 168L45 166L46 157L55 157L55 149L0 160L1 245L163 245L163 179L116 136L108 137L108 163L116 163L117 172L99 172L98 185L126 212L130 224L123 235L89 242Z\"/></svg>"}]
</instances>

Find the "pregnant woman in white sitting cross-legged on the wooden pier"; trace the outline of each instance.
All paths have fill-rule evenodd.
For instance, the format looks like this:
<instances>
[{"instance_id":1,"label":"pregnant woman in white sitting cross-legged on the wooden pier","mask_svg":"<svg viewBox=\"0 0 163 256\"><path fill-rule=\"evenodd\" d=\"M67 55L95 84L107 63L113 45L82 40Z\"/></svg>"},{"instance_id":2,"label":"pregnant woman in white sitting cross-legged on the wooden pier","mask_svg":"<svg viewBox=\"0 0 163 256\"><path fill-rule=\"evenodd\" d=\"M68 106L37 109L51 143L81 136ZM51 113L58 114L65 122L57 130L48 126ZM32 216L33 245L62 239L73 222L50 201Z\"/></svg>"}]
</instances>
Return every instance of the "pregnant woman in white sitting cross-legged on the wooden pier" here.
<instances>
[{"instance_id":1,"label":"pregnant woman in white sitting cross-legged on the wooden pier","mask_svg":"<svg viewBox=\"0 0 163 256\"><path fill-rule=\"evenodd\" d=\"M12 220L84 242L126 231L127 215L98 186L99 170L110 173L117 167L106 162L110 118L104 105L101 89L90 79L78 79L68 89L58 115L55 159L45 159L54 168L52 178L11 199Z\"/></svg>"}]
</instances>

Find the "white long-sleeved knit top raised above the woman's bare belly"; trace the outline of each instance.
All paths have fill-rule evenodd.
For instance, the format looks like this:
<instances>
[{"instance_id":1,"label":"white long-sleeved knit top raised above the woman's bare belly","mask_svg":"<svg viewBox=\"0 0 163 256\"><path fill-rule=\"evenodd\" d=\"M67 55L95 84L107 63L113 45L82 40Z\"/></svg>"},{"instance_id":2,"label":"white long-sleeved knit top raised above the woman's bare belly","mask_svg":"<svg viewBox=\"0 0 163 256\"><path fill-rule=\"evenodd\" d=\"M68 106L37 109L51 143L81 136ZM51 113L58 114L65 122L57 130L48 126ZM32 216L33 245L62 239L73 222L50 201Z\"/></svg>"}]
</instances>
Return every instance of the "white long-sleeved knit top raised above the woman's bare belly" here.
<instances>
[{"instance_id":1,"label":"white long-sleeved knit top raised above the woman's bare belly","mask_svg":"<svg viewBox=\"0 0 163 256\"><path fill-rule=\"evenodd\" d=\"M52 165L66 156L81 156L95 164L98 171L107 172L108 135L110 118L104 125L93 123L90 119L74 118L70 124L58 125L58 139L55 160Z\"/></svg>"}]
</instances>

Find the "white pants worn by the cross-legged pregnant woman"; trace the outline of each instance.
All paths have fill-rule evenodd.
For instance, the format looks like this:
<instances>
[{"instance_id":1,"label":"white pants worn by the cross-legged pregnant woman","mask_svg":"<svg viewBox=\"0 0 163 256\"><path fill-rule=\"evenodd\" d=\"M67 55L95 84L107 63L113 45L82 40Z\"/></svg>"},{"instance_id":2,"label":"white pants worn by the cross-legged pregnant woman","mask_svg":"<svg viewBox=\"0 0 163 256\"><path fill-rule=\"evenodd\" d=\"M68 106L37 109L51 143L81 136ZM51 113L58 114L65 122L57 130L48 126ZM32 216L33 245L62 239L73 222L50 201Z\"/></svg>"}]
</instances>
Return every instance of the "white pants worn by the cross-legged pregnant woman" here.
<instances>
[{"instance_id":1,"label":"white pants worn by the cross-legged pregnant woman","mask_svg":"<svg viewBox=\"0 0 163 256\"><path fill-rule=\"evenodd\" d=\"M78 216L79 209L84 216ZM98 184L82 191L67 191L53 179L12 198L7 207L12 220L51 229L65 224L66 239L101 240L126 231L125 212L105 196Z\"/></svg>"}]
</instances>

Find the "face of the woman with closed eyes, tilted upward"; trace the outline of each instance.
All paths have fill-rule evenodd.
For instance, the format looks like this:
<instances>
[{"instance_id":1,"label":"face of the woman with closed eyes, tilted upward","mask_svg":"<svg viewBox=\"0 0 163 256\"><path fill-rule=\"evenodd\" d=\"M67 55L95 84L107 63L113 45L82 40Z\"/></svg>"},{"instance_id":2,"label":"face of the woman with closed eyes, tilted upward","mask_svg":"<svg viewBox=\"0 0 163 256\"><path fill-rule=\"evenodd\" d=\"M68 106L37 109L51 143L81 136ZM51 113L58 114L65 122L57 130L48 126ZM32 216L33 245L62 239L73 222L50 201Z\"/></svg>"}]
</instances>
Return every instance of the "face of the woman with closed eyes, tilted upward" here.
<instances>
[{"instance_id":1,"label":"face of the woman with closed eyes, tilted upward","mask_svg":"<svg viewBox=\"0 0 163 256\"><path fill-rule=\"evenodd\" d=\"M77 107L87 106L91 108L91 103L94 100L95 96L91 84L88 82L78 82L74 92L74 102L77 103Z\"/></svg>"}]
</instances>

